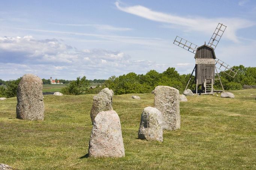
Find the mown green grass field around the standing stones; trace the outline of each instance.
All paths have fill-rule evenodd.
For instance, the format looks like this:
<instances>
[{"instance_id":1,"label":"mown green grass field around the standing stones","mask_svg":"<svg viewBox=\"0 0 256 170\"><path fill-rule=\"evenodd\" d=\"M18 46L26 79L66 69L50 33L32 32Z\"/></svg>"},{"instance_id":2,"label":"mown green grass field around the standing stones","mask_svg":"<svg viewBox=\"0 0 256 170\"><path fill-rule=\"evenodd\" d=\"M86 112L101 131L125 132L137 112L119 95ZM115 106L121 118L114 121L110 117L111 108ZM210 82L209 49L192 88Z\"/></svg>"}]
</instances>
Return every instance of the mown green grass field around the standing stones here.
<instances>
[{"instance_id":1,"label":"mown green grass field around the standing stones","mask_svg":"<svg viewBox=\"0 0 256 170\"><path fill-rule=\"evenodd\" d=\"M256 169L256 89L235 99L193 96L180 103L181 129L161 142L137 139L143 108L153 94L113 97L125 157L86 158L92 95L44 96L45 120L16 119L16 98L0 101L0 163L19 169ZM251 95L252 94L252 95ZM135 94L136 95L136 94Z\"/></svg>"}]
</instances>

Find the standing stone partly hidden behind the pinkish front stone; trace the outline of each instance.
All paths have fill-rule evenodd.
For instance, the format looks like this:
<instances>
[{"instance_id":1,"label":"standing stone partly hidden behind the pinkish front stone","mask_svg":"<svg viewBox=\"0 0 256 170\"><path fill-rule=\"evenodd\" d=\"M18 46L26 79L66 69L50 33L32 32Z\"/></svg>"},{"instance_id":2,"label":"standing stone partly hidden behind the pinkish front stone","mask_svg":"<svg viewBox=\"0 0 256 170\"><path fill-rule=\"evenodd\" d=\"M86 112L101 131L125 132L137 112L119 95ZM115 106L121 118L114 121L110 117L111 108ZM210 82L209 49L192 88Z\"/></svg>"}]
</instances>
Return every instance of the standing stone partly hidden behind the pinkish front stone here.
<instances>
[{"instance_id":1,"label":"standing stone partly hidden behind the pinkish front stone","mask_svg":"<svg viewBox=\"0 0 256 170\"><path fill-rule=\"evenodd\" d=\"M99 112L113 110L112 97L113 93L108 88L102 89L97 96L93 96L92 109L90 112L92 124Z\"/></svg>"}]
</instances>

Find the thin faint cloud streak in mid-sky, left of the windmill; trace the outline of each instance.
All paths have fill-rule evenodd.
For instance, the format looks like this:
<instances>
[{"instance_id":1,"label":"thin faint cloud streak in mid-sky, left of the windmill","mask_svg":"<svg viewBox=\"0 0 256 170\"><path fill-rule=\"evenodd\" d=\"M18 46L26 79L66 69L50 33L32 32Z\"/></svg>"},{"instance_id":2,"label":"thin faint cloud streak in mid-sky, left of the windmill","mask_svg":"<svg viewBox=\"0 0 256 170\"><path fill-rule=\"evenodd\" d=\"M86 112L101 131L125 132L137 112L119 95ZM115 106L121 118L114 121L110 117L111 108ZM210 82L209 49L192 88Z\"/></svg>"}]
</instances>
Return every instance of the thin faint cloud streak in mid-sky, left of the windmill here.
<instances>
[{"instance_id":1,"label":"thin faint cloud streak in mid-sky, left of the windmill","mask_svg":"<svg viewBox=\"0 0 256 170\"><path fill-rule=\"evenodd\" d=\"M114 27L112 25L105 25L105 24L60 24L60 23L52 23L49 24L54 25L65 25L65 26L74 26L74 27L94 27L97 30L108 30L108 31L131 31L131 28L123 28L123 27Z\"/></svg>"}]
</instances>

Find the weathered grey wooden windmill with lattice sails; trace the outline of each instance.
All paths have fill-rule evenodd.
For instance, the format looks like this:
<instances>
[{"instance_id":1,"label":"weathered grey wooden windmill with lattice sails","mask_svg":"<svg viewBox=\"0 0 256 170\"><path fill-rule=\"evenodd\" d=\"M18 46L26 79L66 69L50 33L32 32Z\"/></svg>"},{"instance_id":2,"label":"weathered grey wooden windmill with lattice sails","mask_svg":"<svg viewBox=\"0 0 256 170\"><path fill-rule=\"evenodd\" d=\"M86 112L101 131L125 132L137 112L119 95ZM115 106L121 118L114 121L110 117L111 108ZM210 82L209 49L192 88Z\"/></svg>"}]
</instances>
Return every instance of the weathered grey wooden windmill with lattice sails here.
<instances>
[{"instance_id":1,"label":"weathered grey wooden windmill with lattice sails","mask_svg":"<svg viewBox=\"0 0 256 170\"><path fill-rule=\"evenodd\" d=\"M218 70L225 72L231 77L235 77L237 74L237 69L231 67L230 65L224 63L220 59L216 58L214 50L220 41L224 31L226 30L225 25L218 24L214 33L212 34L209 43L202 46L197 46L181 37L176 36L173 44L194 53L194 58L196 59L196 65L190 75L186 89L189 87L193 93L200 92L203 94L211 94L213 92L223 91L224 88L220 80L220 75ZM217 70L218 69L218 70ZM215 78L215 71L218 78ZM195 74L195 75L193 75ZM223 90L215 90L213 88L215 80L219 80ZM201 89L199 87L201 86Z\"/></svg>"}]
</instances>

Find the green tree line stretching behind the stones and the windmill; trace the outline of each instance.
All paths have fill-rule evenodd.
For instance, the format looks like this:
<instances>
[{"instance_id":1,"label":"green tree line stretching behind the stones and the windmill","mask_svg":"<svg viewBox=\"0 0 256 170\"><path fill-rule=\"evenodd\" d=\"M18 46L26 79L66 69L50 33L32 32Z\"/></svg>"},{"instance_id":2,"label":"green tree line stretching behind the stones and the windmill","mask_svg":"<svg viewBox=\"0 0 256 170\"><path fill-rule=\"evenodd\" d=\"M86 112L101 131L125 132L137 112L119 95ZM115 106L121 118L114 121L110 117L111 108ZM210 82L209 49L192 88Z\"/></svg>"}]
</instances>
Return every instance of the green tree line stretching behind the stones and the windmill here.
<instances>
[{"instance_id":1,"label":"green tree line stretching behind the stones and the windmill","mask_svg":"<svg viewBox=\"0 0 256 170\"><path fill-rule=\"evenodd\" d=\"M221 82L225 90L241 90L243 88L256 88L256 67L244 67L243 65L234 66L238 70L234 78L221 71ZM226 71L228 72L228 71ZM166 71L159 73L155 70L150 70L146 74L136 74L130 72L120 75L119 77L111 76L108 80L87 80L86 77L77 77L76 80L69 81L66 87L61 92L66 95L82 95L99 93L105 87L112 89L114 94L122 95L127 93L151 93L156 86L171 86L178 89L180 92L185 90L190 74L179 74L173 67L169 67ZM217 74L215 75L217 77ZM17 80L3 81L0 79L0 97L15 97L18 83ZM46 79L42 79L43 82ZM46 81L45 81L46 82ZM88 89L90 83L102 83L101 86L96 86L94 89ZM48 83L46 83L48 84ZM215 81L214 89L221 89L220 81Z\"/></svg>"}]
</instances>

